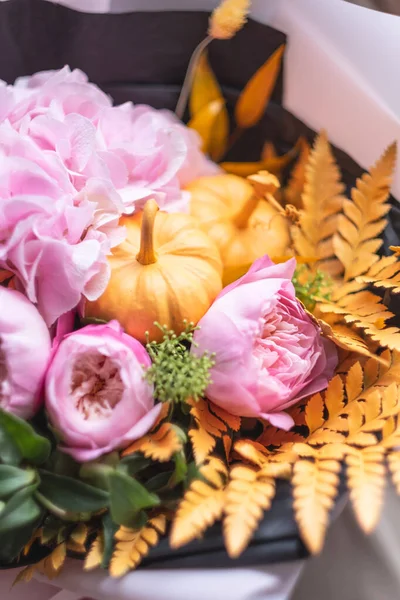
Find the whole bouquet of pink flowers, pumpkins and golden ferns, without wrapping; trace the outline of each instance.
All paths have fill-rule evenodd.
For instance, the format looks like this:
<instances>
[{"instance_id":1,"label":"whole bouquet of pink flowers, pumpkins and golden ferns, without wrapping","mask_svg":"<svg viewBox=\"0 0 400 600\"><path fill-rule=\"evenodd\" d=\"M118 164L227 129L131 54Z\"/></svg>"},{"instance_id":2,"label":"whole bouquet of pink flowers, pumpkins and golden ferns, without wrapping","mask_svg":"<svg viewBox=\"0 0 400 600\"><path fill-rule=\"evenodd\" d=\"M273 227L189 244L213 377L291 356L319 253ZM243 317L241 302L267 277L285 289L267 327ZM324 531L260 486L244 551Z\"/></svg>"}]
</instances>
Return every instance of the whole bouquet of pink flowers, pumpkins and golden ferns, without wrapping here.
<instances>
[{"instance_id":1,"label":"whole bouquet of pink flowers, pumpkins and golden ferns, without wrapping","mask_svg":"<svg viewBox=\"0 0 400 600\"><path fill-rule=\"evenodd\" d=\"M0 90L0 560L20 579L67 554L120 577L218 521L237 558L281 480L318 552L343 465L365 531L386 462L399 484L396 147L349 194L324 132L236 161L284 52L228 111L207 47L248 8L214 11L175 114L68 67Z\"/></svg>"}]
</instances>

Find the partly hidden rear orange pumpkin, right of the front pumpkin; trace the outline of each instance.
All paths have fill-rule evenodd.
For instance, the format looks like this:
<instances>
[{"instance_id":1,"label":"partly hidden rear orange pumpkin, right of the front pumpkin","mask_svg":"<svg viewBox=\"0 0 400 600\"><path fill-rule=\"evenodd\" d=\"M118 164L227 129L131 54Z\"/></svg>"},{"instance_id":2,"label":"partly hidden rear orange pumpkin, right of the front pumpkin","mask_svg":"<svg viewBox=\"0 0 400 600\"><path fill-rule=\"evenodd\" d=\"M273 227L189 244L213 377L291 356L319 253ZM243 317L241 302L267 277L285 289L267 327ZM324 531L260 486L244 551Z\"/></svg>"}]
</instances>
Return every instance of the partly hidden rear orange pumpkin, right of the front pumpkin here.
<instances>
[{"instance_id":1,"label":"partly hidden rear orange pumpkin, right of the front pumpkin","mask_svg":"<svg viewBox=\"0 0 400 600\"><path fill-rule=\"evenodd\" d=\"M270 190L279 186L270 177ZM264 186L268 188L268 186ZM250 265L269 254L285 256L290 243L287 220L256 193L257 188L236 175L200 177L187 190L191 193L191 214L216 242L226 273L239 265Z\"/></svg>"}]
</instances>

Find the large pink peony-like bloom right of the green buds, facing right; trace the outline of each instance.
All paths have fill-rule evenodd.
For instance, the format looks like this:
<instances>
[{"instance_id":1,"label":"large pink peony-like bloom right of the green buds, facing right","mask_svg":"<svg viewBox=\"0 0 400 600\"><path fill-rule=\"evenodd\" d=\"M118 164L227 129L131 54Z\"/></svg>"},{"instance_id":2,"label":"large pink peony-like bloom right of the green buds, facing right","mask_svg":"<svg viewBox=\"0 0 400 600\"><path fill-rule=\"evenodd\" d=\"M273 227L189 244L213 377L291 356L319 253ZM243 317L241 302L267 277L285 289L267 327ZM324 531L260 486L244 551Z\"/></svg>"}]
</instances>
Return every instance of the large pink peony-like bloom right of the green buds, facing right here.
<instances>
[{"instance_id":1,"label":"large pink peony-like bloom right of the green buds, facing right","mask_svg":"<svg viewBox=\"0 0 400 600\"><path fill-rule=\"evenodd\" d=\"M257 260L201 319L192 350L216 355L207 389L212 402L282 429L293 425L283 411L324 389L338 361L334 344L295 297L295 266L295 259Z\"/></svg>"}]
</instances>

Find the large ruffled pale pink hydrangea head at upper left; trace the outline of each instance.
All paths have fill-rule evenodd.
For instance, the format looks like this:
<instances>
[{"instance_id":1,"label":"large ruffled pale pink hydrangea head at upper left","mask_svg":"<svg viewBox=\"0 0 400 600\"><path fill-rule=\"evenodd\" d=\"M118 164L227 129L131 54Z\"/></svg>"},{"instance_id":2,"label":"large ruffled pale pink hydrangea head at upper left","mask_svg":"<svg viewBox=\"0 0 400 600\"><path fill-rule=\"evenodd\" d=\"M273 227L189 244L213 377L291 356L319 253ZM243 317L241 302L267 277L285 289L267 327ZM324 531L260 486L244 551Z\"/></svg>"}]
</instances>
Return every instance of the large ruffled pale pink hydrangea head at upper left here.
<instances>
[{"instance_id":1,"label":"large ruffled pale pink hydrangea head at upper left","mask_svg":"<svg viewBox=\"0 0 400 600\"><path fill-rule=\"evenodd\" d=\"M184 212L183 185L216 169L173 115L113 107L68 67L1 83L0 123L0 266L48 325L103 293L121 214Z\"/></svg>"}]
</instances>

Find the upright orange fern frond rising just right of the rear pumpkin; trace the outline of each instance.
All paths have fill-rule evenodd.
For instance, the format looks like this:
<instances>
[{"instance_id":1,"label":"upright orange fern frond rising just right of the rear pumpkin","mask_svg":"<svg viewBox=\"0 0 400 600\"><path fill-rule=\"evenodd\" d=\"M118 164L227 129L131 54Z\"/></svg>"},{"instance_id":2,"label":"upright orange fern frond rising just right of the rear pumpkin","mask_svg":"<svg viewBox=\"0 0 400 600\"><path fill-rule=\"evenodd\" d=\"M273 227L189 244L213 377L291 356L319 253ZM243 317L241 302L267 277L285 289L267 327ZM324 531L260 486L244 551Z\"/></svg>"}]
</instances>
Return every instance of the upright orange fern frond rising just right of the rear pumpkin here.
<instances>
[{"instance_id":1,"label":"upright orange fern frond rising just right of the rear pumpkin","mask_svg":"<svg viewBox=\"0 0 400 600\"><path fill-rule=\"evenodd\" d=\"M317 137L305 169L302 194L304 209L299 226L292 228L295 249L300 256L319 259L313 266L338 275L342 266L334 256L333 235L342 210L344 185L325 132Z\"/></svg>"}]
</instances>

